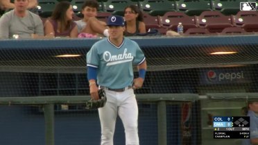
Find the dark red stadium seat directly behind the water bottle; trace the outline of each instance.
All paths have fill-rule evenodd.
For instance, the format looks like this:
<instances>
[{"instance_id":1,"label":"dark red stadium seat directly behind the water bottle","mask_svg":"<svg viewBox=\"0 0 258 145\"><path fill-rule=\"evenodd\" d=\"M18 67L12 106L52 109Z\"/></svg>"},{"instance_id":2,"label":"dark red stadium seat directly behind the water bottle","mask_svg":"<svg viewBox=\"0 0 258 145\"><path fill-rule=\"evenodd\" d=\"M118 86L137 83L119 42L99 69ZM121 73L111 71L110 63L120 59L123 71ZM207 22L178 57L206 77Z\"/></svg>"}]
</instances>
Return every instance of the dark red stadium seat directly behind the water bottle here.
<instances>
[{"instance_id":1,"label":"dark red stadium seat directly behind the water bottle","mask_svg":"<svg viewBox=\"0 0 258 145\"><path fill-rule=\"evenodd\" d=\"M160 24L172 31L177 31L179 22L184 26L184 31L197 27L195 18L184 14L184 12L166 12L164 16L160 17Z\"/></svg>"}]
</instances>

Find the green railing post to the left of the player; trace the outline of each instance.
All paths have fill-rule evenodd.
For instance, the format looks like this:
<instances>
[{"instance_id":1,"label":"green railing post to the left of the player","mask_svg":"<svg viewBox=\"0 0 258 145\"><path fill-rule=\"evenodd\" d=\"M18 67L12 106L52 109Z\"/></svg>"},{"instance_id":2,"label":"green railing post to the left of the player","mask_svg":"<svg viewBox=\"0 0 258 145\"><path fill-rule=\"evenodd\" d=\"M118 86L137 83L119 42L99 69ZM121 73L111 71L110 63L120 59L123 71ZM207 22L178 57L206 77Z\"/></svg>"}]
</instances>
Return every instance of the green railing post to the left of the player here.
<instances>
[{"instance_id":1,"label":"green railing post to the left of the player","mask_svg":"<svg viewBox=\"0 0 258 145\"><path fill-rule=\"evenodd\" d=\"M54 145L54 104L44 104L45 142Z\"/></svg>"}]
</instances>

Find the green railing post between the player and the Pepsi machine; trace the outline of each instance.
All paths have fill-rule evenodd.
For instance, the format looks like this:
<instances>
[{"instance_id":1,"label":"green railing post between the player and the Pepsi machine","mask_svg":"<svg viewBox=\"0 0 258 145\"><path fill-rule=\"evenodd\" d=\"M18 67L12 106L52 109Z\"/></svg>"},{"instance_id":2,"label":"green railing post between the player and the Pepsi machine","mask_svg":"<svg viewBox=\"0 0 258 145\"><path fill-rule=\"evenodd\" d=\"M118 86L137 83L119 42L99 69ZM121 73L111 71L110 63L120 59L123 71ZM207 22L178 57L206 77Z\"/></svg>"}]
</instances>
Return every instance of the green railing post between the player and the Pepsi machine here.
<instances>
[{"instance_id":1,"label":"green railing post between the player and the Pepsi machine","mask_svg":"<svg viewBox=\"0 0 258 145\"><path fill-rule=\"evenodd\" d=\"M166 101L157 102L158 145L166 145Z\"/></svg>"}]
</instances>

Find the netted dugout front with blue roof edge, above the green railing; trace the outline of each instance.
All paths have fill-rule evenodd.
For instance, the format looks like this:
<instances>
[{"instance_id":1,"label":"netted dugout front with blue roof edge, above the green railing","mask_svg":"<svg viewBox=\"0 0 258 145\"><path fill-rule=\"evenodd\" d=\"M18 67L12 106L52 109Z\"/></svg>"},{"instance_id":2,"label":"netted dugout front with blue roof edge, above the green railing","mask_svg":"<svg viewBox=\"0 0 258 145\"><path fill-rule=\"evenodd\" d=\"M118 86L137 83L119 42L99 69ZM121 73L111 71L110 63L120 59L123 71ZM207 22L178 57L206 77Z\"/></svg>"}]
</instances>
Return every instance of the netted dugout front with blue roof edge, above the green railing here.
<instances>
[{"instance_id":1,"label":"netted dugout front with blue roof edge, above the green railing","mask_svg":"<svg viewBox=\"0 0 258 145\"><path fill-rule=\"evenodd\" d=\"M209 92L230 89L256 92L256 35L139 37L134 40L141 46L148 63L144 87L137 93L205 94L207 89ZM86 53L96 41L98 39L1 41L1 94L88 94ZM232 54L212 54L216 52ZM79 56L57 57L67 54Z\"/></svg>"}]
</instances>

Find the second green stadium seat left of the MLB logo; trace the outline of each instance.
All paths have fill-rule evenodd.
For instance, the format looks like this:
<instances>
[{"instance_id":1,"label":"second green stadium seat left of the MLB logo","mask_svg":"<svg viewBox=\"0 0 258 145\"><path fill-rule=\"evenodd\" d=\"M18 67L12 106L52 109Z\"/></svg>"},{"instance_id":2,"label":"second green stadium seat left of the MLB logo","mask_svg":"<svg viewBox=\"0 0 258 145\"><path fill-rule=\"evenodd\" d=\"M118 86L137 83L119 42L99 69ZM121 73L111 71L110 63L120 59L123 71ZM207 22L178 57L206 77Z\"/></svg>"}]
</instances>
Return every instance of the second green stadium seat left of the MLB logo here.
<instances>
[{"instance_id":1,"label":"second green stadium seat left of the MLB logo","mask_svg":"<svg viewBox=\"0 0 258 145\"><path fill-rule=\"evenodd\" d=\"M185 12L189 16L200 15L203 11L212 10L210 0L179 0L176 1L178 11Z\"/></svg>"}]
</instances>

